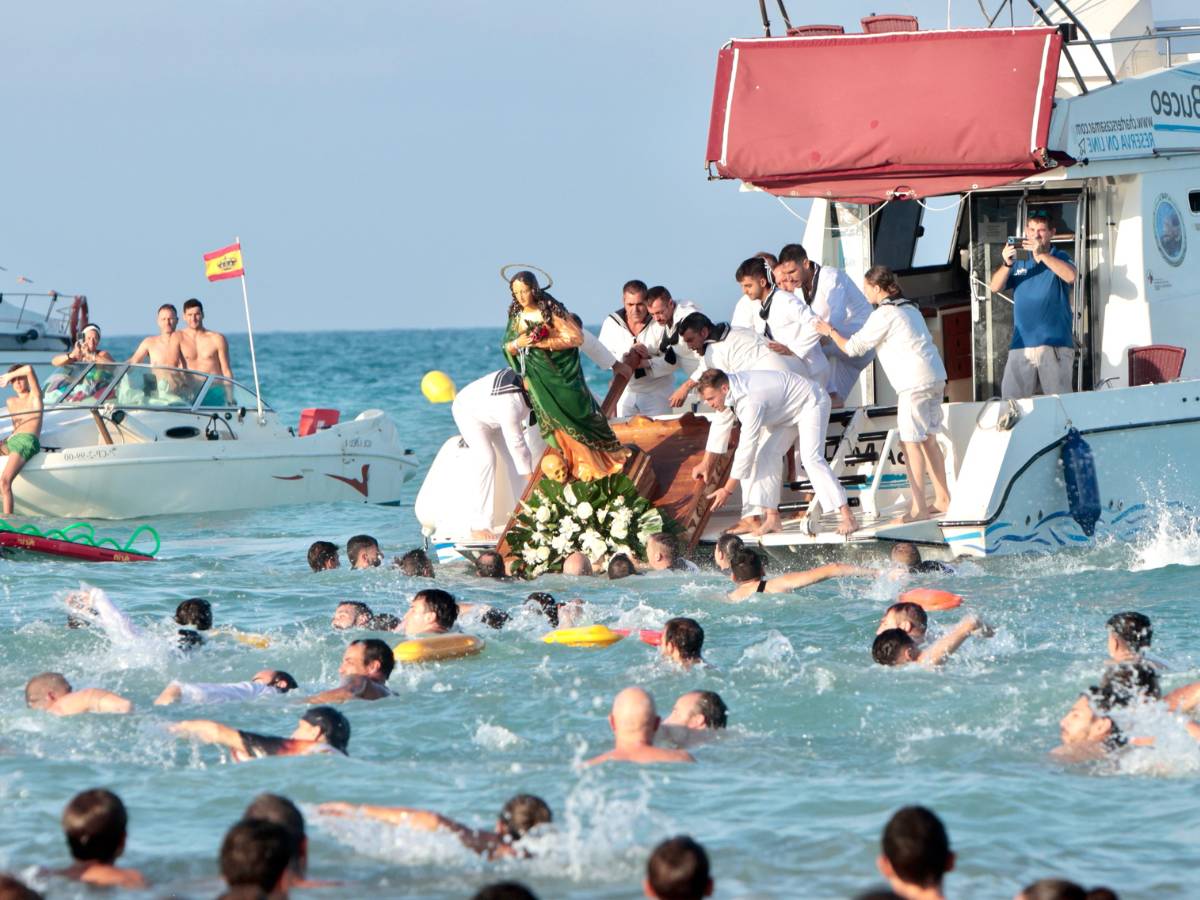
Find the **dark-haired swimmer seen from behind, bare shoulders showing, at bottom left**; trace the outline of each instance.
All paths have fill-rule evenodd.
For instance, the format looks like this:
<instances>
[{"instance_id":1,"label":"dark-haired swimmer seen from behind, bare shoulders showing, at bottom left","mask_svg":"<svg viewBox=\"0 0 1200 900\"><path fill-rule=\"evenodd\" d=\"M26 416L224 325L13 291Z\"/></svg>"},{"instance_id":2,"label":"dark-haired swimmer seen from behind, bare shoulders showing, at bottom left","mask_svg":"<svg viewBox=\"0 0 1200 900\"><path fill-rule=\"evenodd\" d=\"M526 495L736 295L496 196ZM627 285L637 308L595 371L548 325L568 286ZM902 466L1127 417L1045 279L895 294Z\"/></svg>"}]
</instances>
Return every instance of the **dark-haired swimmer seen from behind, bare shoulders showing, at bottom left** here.
<instances>
[{"instance_id":1,"label":"dark-haired swimmer seen from behind, bare shoulders showing, at bottom left","mask_svg":"<svg viewBox=\"0 0 1200 900\"><path fill-rule=\"evenodd\" d=\"M125 804L112 791L77 793L62 810L62 834L74 862L54 875L97 887L144 888L142 872L116 865L125 852L128 821Z\"/></svg>"}]
</instances>

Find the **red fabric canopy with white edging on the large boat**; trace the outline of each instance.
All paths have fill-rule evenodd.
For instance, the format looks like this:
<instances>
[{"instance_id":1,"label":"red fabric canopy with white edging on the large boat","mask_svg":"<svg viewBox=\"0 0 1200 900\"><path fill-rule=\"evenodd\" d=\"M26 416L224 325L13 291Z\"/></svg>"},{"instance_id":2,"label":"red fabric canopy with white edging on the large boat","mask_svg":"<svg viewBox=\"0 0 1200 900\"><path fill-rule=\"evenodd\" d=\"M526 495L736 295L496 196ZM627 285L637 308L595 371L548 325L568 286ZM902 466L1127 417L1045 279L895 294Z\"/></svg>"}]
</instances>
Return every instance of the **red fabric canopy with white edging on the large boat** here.
<instances>
[{"instance_id":1,"label":"red fabric canopy with white edging on the large boat","mask_svg":"<svg viewBox=\"0 0 1200 900\"><path fill-rule=\"evenodd\" d=\"M716 59L709 166L788 197L876 202L1050 166L1050 28L733 41Z\"/></svg>"}]
</instances>

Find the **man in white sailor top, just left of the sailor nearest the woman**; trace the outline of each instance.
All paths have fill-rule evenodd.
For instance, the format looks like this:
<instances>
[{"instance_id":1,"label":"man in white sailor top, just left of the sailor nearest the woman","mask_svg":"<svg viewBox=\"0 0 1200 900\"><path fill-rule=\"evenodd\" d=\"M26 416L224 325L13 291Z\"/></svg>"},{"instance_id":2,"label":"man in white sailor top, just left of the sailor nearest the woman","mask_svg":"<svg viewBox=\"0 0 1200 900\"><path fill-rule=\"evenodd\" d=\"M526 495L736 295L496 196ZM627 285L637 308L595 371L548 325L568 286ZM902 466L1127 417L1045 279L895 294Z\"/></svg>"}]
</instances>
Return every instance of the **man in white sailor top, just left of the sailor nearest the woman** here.
<instances>
[{"instance_id":1,"label":"man in white sailor top, just left of the sailor nearest the woman","mask_svg":"<svg viewBox=\"0 0 1200 900\"><path fill-rule=\"evenodd\" d=\"M821 349L816 314L794 294L770 283L762 257L750 257L734 276L743 295L754 305L750 326L767 338L767 346L784 356L797 374L822 388L829 378L829 364Z\"/></svg>"}]
</instances>

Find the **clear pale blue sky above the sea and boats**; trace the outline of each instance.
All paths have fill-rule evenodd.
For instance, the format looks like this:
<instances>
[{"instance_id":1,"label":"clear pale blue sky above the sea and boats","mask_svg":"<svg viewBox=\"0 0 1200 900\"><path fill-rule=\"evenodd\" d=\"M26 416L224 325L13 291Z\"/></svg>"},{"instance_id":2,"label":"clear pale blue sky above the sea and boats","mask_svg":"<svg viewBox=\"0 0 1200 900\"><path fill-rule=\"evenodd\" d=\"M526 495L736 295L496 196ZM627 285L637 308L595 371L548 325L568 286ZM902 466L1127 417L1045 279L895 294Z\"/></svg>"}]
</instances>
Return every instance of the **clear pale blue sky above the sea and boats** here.
<instances>
[{"instance_id":1,"label":"clear pale blue sky above the sea and boats","mask_svg":"<svg viewBox=\"0 0 1200 900\"><path fill-rule=\"evenodd\" d=\"M721 311L738 262L802 233L704 180L716 50L761 34L755 0L72 0L4 25L0 289L86 293L112 334L192 295L244 330L200 265L239 234L256 328L310 330L499 324L508 262L588 322L632 277Z\"/></svg>"}]
</instances>

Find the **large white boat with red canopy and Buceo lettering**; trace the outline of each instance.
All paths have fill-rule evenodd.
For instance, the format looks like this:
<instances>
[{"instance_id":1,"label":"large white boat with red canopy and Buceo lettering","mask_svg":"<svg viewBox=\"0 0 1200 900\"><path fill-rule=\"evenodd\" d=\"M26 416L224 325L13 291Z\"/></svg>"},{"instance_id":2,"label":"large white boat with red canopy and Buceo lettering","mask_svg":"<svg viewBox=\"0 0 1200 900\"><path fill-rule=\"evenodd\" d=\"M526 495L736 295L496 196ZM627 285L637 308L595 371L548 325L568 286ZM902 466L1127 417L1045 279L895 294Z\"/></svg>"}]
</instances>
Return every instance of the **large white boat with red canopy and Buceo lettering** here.
<instances>
[{"instance_id":1,"label":"large white boat with red canopy and Buceo lettering","mask_svg":"<svg viewBox=\"0 0 1200 900\"><path fill-rule=\"evenodd\" d=\"M827 458L862 524L851 544L1056 551L1200 514L1200 23L1157 25L1150 0L1030 4L1032 28L930 31L872 16L862 34L799 26L719 55L713 176L760 203L812 198L810 258L856 282L872 264L893 269L949 374L952 499L936 520L892 524L911 486L877 364L834 413ZM998 401L1013 306L989 282L1034 210L1078 270L1075 390ZM1087 496L1068 497L1068 469L1091 469ZM792 518L761 539L772 553L846 545L806 488L786 485ZM733 498L702 539L737 509ZM432 533L440 550L449 535Z\"/></svg>"}]
</instances>

